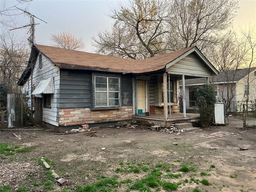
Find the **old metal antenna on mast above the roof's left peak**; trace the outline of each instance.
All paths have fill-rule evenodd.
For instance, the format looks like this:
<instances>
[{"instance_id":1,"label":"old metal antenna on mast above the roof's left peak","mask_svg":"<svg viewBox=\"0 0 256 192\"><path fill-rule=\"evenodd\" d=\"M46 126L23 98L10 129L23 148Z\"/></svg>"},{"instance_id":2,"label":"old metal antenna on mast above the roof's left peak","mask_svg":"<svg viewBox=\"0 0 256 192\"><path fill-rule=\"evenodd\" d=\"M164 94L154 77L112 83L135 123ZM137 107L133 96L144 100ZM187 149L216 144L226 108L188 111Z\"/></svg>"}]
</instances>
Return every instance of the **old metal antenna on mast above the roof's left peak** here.
<instances>
[{"instance_id":1,"label":"old metal antenna on mast above the roof's left peak","mask_svg":"<svg viewBox=\"0 0 256 192\"><path fill-rule=\"evenodd\" d=\"M35 25L38 25L38 24L39 24L39 23L36 23L36 24L35 24L34 18L37 18L37 19L39 19L39 20L41 20L41 21L43 21L43 22L45 22L45 21L42 20L42 19L40 19L40 18L38 18L38 17L36 17L36 16L34 16L33 14L31 14L30 12L28 12L28 11L26 11L26 10L20 9L20 8L18 8L18 7L16 7L16 8L17 8L18 10L23 11L25 14L28 14L28 16L30 17L30 24L24 25L24 26L21 26L21 27L17 27L17 28L13 28L13 29L10 29L10 30L20 29L20 28L25 28L25 27L30 26L30 29L28 30L28 33L30 33L30 36L29 36L29 38L28 38L28 41L29 41L30 46L31 46L31 48L32 48L32 45L33 45L34 42L35 42ZM45 23L47 23L47 22L45 22Z\"/></svg>"}]
</instances>

